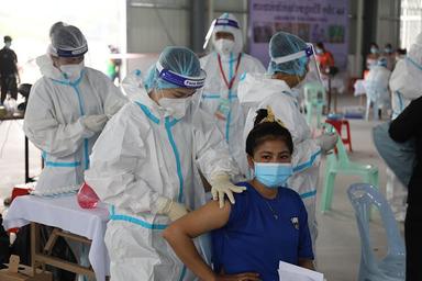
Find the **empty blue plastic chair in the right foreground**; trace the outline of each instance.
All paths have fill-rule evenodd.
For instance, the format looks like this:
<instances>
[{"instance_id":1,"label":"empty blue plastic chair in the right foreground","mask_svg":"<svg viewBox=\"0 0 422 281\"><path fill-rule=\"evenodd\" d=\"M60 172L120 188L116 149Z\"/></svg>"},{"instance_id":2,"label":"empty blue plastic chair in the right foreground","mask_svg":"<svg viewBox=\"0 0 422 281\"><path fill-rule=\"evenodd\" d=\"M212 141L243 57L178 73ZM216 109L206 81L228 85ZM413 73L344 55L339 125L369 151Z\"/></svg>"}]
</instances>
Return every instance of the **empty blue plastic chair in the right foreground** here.
<instances>
[{"instance_id":1,"label":"empty blue plastic chair in the right foreground","mask_svg":"<svg viewBox=\"0 0 422 281\"><path fill-rule=\"evenodd\" d=\"M397 227L395 216L387 200L379 191L367 183L352 184L347 190L348 199L355 209L357 227L360 235L360 267L358 281L399 281L406 277L406 247ZM378 260L373 252L369 235L370 206L380 212L387 234L387 256Z\"/></svg>"}]
</instances>

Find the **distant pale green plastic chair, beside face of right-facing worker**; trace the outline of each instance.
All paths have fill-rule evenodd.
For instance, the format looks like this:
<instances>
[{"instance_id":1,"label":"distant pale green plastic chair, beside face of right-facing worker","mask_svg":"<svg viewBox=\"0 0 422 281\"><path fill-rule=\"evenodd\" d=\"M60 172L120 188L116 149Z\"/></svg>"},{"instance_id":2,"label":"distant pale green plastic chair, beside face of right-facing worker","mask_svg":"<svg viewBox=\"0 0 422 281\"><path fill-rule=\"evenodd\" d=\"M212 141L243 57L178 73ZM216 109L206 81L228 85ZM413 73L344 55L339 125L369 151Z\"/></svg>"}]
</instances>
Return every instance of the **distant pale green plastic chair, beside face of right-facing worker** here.
<instances>
[{"instance_id":1,"label":"distant pale green plastic chair, beside face of right-facing worker","mask_svg":"<svg viewBox=\"0 0 422 281\"><path fill-rule=\"evenodd\" d=\"M303 86L304 106L307 109L307 123L312 126L312 115L316 115L316 127L321 127L322 109L326 104L325 88L319 82L309 82Z\"/></svg>"}]
</instances>

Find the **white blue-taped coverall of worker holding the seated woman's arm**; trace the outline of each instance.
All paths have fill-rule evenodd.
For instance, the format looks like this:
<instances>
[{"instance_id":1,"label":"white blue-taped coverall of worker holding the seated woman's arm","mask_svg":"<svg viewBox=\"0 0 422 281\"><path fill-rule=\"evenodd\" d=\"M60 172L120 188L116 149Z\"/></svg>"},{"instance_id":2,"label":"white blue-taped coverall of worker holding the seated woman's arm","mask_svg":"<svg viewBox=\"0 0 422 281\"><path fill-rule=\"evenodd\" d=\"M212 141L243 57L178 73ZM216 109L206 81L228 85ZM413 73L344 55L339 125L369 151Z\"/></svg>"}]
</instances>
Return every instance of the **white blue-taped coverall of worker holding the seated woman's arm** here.
<instances>
[{"instance_id":1,"label":"white blue-taped coverall of worker holding the seated woman's arm","mask_svg":"<svg viewBox=\"0 0 422 281\"><path fill-rule=\"evenodd\" d=\"M197 167L207 179L215 171L240 173L212 117L193 103L175 120L142 90L107 124L86 181L112 205L106 233L112 281L196 280L162 237L170 220L157 214L157 199L190 210L204 204ZM209 260L207 244L204 236L196 239Z\"/></svg>"}]
</instances>

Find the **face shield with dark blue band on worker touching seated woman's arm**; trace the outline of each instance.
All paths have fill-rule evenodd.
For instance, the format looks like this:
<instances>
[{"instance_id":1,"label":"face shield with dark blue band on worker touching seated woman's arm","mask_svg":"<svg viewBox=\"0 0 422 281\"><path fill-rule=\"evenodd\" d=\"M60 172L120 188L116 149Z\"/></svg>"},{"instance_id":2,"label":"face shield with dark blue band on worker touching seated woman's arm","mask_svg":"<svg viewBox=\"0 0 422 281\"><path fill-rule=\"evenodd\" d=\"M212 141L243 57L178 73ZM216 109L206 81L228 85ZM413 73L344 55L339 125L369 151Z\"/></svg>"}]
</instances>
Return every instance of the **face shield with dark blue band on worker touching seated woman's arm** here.
<instances>
[{"instance_id":1,"label":"face shield with dark blue band on worker touching seated woman's arm","mask_svg":"<svg viewBox=\"0 0 422 281\"><path fill-rule=\"evenodd\" d=\"M206 71L201 69L197 77L184 76L164 68L159 61L156 63L156 69L158 71L158 78L175 85L175 99L191 97L191 109L195 114L198 111L201 101L207 78ZM180 89L180 91L176 91L176 89ZM180 93L186 93L186 97L181 97Z\"/></svg>"}]
</instances>

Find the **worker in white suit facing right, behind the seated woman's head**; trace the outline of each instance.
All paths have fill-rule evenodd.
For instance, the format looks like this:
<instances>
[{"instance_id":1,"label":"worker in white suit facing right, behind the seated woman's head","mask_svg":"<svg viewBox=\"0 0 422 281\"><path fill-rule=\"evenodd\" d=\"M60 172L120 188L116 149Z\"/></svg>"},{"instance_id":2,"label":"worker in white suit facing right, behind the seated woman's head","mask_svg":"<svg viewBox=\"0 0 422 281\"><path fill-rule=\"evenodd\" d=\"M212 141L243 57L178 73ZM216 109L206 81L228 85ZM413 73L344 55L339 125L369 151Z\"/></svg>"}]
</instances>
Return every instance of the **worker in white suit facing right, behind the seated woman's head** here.
<instances>
[{"instance_id":1,"label":"worker in white suit facing right, behind the seated woman's head","mask_svg":"<svg viewBox=\"0 0 422 281\"><path fill-rule=\"evenodd\" d=\"M323 134L313 139L292 92L292 88L299 87L307 76L313 47L292 34L278 32L269 42L269 55L271 61L266 75L246 74L238 85L241 104L251 108L246 119L244 139L253 128L256 111L268 106L290 131L295 144L292 155L295 173L289 179L288 186L303 200L314 247L318 236L315 202L320 155L321 151L332 149L337 137L334 134ZM243 172L251 175L245 165L242 165Z\"/></svg>"}]
</instances>

